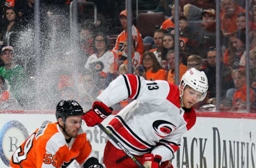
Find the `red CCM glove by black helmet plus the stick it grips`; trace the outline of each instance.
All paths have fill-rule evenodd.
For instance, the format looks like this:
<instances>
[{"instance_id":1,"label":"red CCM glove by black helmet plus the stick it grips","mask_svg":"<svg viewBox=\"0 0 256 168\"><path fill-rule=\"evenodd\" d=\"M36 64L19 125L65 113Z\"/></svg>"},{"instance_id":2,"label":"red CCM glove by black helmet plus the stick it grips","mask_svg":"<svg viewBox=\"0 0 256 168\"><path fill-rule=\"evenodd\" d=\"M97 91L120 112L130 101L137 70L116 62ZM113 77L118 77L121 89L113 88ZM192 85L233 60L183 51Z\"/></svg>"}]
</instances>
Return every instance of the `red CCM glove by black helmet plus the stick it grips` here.
<instances>
[{"instance_id":1,"label":"red CCM glove by black helmet plus the stick it grips","mask_svg":"<svg viewBox=\"0 0 256 168\"><path fill-rule=\"evenodd\" d=\"M87 126L93 127L94 125L98 125L100 129L107 134L107 136L112 139L116 145L119 146L120 149L124 151L124 153L129 156L133 162L135 162L140 168L145 168L130 152L127 150L113 135L112 133L106 129L101 122L106 119L108 115L111 114L112 108L106 106L102 102L94 102L92 105L92 109L85 113L82 118L86 122Z\"/></svg>"}]
</instances>

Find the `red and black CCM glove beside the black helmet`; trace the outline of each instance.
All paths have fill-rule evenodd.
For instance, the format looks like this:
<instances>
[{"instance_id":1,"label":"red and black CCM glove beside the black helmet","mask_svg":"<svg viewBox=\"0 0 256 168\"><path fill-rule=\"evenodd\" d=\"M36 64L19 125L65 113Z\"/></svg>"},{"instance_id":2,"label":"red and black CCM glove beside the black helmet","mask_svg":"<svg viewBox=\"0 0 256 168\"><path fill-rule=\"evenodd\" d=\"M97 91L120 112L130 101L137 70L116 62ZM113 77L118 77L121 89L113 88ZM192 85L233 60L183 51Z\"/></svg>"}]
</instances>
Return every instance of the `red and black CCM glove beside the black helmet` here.
<instances>
[{"instance_id":1,"label":"red and black CCM glove beside the black helmet","mask_svg":"<svg viewBox=\"0 0 256 168\"><path fill-rule=\"evenodd\" d=\"M101 123L112 112L111 108L108 108L102 102L94 102L92 109L85 113L82 118L86 122L88 127L93 127Z\"/></svg>"}]
</instances>

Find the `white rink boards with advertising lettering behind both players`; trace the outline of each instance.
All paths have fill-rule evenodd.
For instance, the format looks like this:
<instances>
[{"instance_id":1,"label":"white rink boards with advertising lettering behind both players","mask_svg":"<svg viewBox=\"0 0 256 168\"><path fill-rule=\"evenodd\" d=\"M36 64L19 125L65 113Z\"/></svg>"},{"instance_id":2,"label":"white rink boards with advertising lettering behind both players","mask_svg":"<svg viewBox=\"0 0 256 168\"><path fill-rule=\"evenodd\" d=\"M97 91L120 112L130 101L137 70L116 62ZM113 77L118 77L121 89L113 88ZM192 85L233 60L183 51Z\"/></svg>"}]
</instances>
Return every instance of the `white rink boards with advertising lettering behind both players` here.
<instances>
[{"instance_id":1,"label":"white rink boards with advertising lettering behind both players","mask_svg":"<svg viewBox=\"0 0 256 168\"><path fill-rule=\"evenodd\" d=\"M256 167L255 115L221 115L198 113L195 126L181 138L181 147L172 158L174 167L196 168L254 168ZM241 114L242 115L242 114ZM103 125L110 120L110 116ZM55 122L50 113L1 113L0 118L0 167L9 167L14 150L38 127ZM91 141L95 156L102 162L107 141L99 127L89 128L83 122L82 129ZM77 163L69 167L79 167Z\"/></svg>"}]
</instances>

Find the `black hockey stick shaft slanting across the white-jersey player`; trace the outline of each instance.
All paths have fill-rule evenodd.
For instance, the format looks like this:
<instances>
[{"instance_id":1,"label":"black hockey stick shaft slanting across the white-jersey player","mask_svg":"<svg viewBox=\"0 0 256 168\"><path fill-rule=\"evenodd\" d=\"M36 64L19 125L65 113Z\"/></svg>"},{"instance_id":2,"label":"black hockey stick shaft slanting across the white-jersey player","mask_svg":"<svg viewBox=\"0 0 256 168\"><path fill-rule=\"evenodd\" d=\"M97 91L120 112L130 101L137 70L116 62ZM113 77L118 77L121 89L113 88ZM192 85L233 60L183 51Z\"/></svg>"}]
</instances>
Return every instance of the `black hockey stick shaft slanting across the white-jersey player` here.
<instances>
[{"instance_id":1,"label":"black hockey stick shaft slanting across the white-jersey player","mask_svg":"<svg viewBox=\"0 0 256 168\"><path fill-rule=\"evenodd\" d=\"M123 152L129 156L133 162L135 162L140 168L145 168L145 166L143 166L130 152L129 150L127 150L113 135L112 133L106 129L102 124L98 124L98 126L100 127L100 129L105 132L107 134L107 136L112 139L116 145L123 150Z\"/></svg>"}]
</instances>

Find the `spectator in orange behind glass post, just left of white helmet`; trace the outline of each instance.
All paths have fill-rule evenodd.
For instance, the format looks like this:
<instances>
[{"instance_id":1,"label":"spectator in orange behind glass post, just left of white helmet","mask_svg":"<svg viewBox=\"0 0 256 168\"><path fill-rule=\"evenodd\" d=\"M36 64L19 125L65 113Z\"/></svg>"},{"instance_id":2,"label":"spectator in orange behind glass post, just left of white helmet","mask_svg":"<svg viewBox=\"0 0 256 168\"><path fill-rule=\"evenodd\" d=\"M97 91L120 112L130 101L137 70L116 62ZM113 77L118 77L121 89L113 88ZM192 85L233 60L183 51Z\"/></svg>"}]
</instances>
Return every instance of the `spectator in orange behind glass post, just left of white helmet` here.
<instances>
[{"instance_id":1,"label":"spectator in orange behind glass post, just left of white helmet","mask_svg":"<svg viewBox=\"0 0 256 168\"><path fill-rule=\"evenodd\" d=\"M188 67L182 63L182 54L179 55L179 81L181 80L182 75L188 70ZM167 63L170 67L170 70L167 75L167 81L175 84L175 53L173 50L167 52Z\"/></svg>"}]
</instances>

